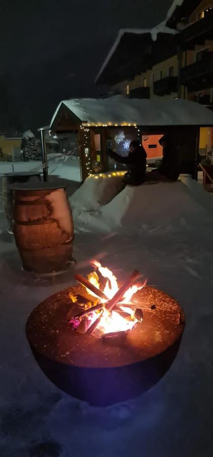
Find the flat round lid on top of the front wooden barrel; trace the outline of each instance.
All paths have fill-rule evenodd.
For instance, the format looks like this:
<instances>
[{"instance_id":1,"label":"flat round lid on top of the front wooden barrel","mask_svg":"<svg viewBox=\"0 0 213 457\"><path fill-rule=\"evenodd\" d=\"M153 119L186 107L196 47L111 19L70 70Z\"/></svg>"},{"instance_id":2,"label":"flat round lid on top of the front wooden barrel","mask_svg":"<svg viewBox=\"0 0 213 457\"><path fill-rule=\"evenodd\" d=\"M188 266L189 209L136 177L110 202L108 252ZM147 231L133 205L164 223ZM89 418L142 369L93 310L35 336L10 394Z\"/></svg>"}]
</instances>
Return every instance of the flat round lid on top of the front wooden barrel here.
<instances>
[{"instance_id":1,"label":"flat round lid on top of the front wooden barrel","mask_svg":"<svg viewBox=\"0 0 213 457\"><path fill-rule=\"evenodd\" d=\"M27 181L27 182L14 182L8 184L8 189L11 190L49 190L49 189L61 189L68 187L70 181L67 179L53 179L52 181Z\"/></svg>"}]
</instances>

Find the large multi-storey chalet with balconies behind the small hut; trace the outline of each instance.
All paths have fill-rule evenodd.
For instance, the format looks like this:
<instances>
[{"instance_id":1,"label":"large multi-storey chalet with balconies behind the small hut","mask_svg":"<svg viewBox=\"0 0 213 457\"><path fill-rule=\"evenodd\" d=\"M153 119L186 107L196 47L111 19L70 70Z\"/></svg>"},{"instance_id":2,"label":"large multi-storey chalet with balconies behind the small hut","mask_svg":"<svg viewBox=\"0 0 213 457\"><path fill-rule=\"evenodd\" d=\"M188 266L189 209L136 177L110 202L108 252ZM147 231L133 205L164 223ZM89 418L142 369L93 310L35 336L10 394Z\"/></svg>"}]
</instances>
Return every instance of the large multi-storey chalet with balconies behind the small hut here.
<instances>
[{"instance_id":1,"label":"large multi-storey chalet with balconies behind the small hut","mask_svg":"<svg viewBox=\"0 0 213 457\"><path fill-rule=\"evenodd\" d=\"M180 3L152 30L120 30L96 83L129 98L178 97L212 109L213 2ZM212 146L212 128L202 127L200 153Z\"/></svg>"}]
</instances>

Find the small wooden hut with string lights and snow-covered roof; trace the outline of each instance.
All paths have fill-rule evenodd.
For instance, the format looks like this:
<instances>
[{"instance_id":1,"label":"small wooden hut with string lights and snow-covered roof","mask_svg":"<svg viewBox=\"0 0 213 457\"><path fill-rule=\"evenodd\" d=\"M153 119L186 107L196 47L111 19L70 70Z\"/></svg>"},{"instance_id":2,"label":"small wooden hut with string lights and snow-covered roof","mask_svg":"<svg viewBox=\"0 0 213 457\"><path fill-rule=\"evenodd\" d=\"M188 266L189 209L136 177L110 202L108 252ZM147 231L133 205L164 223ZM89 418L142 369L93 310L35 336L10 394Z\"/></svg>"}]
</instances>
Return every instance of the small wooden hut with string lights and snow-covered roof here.
<instances>
[{"instance_id":1,"label":"small wooden hut with string lights and snow-covered roof","mask_svg":"<svg viewBox=\"0 0 213 457\"><path fill-rule=\"evenodd\" d=\"M143 143L148 160L162 157L158 140L169 134L178 148L181 173L196 179L200 127L211 128L213 111L187 100L129 98L63 100L50 123L52 135L66 137L77 145L82 181L91 174L111 177L121 173L107 154L112 148L121 156L129 153L133 140ZM158 148L157 148L158 145ZM157 157L156 157L157 156ZM124 166L125 169L125 166ZM109 172L105 176L105 172Z\"/></svg>"}]
</instances>

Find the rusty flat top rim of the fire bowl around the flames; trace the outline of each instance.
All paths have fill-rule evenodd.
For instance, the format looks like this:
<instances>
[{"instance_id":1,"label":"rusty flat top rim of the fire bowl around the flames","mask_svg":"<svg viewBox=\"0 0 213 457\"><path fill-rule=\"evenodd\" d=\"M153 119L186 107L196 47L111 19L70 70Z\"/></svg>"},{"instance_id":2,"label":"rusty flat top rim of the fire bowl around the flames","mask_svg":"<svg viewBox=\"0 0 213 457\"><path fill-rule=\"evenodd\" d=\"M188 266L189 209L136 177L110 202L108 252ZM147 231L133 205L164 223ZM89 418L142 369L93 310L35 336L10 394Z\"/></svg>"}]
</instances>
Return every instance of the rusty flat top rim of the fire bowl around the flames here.
<instances>
[{"instance_id":1,"label":"rusty flat top rim of the fire bowl around the flames","mask_svg":"<svg viewBox=\"0 0 213 457\"><path fill-rule=\"evenodd\" d=\"M185 316L180 305L165 292L146 286L133 296L133 301L146 307L144 319L119 342L79 335L67 322L67 314L72 306L69 292L76 295L81 290L80 285L62 290L32 311L26 324L32 349L60 363L107 368L153 357L172 346L183 333ZM147 309L153 304L155 309Z\"/></svg>"}]
</instances>

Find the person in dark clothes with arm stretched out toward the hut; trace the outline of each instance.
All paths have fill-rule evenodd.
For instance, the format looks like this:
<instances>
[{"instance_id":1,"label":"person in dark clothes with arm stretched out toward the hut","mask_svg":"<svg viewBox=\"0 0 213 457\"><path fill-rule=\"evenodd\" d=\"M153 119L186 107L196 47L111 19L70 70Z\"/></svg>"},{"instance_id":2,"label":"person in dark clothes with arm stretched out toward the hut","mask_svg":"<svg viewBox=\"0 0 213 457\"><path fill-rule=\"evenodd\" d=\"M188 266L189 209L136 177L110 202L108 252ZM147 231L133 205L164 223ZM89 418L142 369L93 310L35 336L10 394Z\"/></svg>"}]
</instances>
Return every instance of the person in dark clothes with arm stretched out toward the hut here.
<instances>
[{"instance_id":1,"label":"person in dark clothes with arm stretched out toward the hut","mask_svg":"<svg viewBox=\"0 0 213 457\"><path fill-rule=\"evenodd\" d=\"M110 157L120 164L127 165L127 173L122 178L123 184L138 186L146 179L146 151L139 141L130 143L129 155L123 157L116 152L108 151Z\"/></svg>"}]
</instances>

